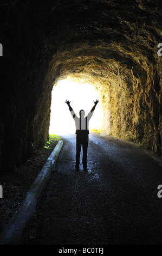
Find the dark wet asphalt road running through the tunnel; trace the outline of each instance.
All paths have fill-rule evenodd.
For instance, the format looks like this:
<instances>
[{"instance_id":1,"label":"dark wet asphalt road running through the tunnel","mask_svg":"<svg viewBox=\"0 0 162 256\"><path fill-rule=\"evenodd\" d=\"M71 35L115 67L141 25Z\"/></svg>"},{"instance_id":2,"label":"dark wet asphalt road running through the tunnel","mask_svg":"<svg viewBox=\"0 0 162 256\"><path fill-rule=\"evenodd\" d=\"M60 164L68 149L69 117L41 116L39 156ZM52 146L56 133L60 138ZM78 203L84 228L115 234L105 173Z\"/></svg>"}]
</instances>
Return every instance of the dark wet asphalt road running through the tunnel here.
<instances>
[{"instance_id":1,"label":"dark wet asphalt road running through the tunnel","mask_svg":"<svg viewBox=\"0 0 162 256\"><path fill-rule=\"evenodd\" d=\"M162 244L158 158L134 143L93 133L88 170L76 170L75 135L63 141L24 243Z\"/></svg>"}]
</instances>

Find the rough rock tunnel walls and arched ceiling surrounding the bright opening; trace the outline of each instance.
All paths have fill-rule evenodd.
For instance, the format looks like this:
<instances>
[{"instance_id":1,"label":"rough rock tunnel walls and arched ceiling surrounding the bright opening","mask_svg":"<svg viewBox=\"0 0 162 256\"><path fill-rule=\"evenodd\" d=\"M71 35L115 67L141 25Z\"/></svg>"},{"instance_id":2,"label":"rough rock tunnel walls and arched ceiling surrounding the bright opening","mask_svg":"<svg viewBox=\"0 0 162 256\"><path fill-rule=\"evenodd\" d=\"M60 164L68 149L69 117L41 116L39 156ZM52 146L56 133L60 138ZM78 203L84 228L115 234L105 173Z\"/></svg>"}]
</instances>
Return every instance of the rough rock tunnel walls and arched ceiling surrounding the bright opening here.
<instances>
[{"instance_id":1,"label":"rough rock tunnel walls and arched ceiling surrounding the bright opening","mask_svg":"<svg viewBox=\"0 0 162 256\"><path fill-rule=\"evenodd\" d=\"M30 155L33 145L43 145L48 138L51 89L66 77L100 90L103 115L111 111L111 135L161 155L160 4L151 0L1 3L1 76L3 96L8 97L0 119L0 157L5 159L9 139L16 163ZM15 148L21 148L17 158Z\"/></svg>"}]
</instances>

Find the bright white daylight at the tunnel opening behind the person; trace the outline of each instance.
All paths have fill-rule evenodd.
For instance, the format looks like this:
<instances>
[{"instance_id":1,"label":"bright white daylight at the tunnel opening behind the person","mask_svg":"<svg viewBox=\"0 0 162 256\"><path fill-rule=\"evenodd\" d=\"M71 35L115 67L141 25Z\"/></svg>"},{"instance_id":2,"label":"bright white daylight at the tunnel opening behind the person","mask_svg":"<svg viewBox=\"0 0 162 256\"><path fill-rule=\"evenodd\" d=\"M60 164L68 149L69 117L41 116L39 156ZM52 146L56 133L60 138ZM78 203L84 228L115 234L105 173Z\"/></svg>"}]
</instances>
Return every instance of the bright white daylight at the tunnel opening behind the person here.
<instances>
[{"instance_id":1,"label":"bright white daylight at the tunnel opening behind the person","mask_svg":"<svg viewBox=\"0 0 162 256\"><path fill-rule=\"evenodd\" d=\"M75 121L70 114L65 100L71 101L74 112L79 117L79 111L84 109L86 115L94 106L94 101L100 100L98 91L89 84L80 84L68 80L61 80L52 91L50 134L61 135L63 133L75 133ZM89 121L90 129L100 128L100 102L95 108Z\"/></svg>"}]
</instances>

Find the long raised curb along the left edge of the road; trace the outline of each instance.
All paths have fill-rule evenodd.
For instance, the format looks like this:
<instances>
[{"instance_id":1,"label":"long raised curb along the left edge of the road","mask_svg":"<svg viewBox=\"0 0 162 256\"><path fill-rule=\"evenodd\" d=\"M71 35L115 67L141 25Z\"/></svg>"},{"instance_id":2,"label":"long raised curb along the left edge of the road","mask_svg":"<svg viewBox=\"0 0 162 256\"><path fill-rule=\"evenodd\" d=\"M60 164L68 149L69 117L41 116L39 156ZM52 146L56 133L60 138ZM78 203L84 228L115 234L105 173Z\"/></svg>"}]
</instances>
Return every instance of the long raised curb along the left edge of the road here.
<instances>
[{"instance_id":1,"label":"long raised curb along the left edge of the road","mask_svg":"<svg viewBox=\"0 0 162 256\"><path fill-rule=\"evenodd\" d=\"M57 143L55 149L41 169L41 172L37 175L37 178L27 193L27 197L24 199L20 209L18 209L16 216L13 217L12 223L2 232L0 245L20 245L22 243L30 219L36 211L36 207L47 185L52 167L60 154L62 145L62 141Z\"/></svg>"}]
</instances>

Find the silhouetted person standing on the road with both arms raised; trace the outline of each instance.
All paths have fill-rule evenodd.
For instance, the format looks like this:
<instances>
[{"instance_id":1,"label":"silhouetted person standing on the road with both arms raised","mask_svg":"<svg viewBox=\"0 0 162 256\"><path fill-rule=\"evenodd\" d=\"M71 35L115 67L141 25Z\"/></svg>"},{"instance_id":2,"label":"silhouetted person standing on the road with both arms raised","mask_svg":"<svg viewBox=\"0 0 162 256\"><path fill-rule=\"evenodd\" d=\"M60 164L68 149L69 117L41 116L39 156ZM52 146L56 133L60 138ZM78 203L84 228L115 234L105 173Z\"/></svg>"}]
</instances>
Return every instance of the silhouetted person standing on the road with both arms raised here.
<instances>
[{"instance_id":1,"label":"silhouetted person standing on the road with both arms raised","mask_svg":"<svg viewBox=\"0 0 162 256\"><path fill-rule=\"evenodd\" d=\"M71 101L70 101L71 102ZM88 149L88 135L89 135L89 120L93 115L94 109L99 102L99 100L96 100L94 102L94 106L85 117L85 111L81 109L79 112L80 118L77 117L77 115L74 113L73 108L70 106L69 100L66 100L65 103L69 106L70 113L72 114L72 117L75 120L75 126L76 126L76 163L75 167L78 169L79 164L80 164L80 152L81 152L81 147L83 149L83 159L82 159L82 164L83 168L87 169L87 149Z\"/></svg>"}]
</instances>

